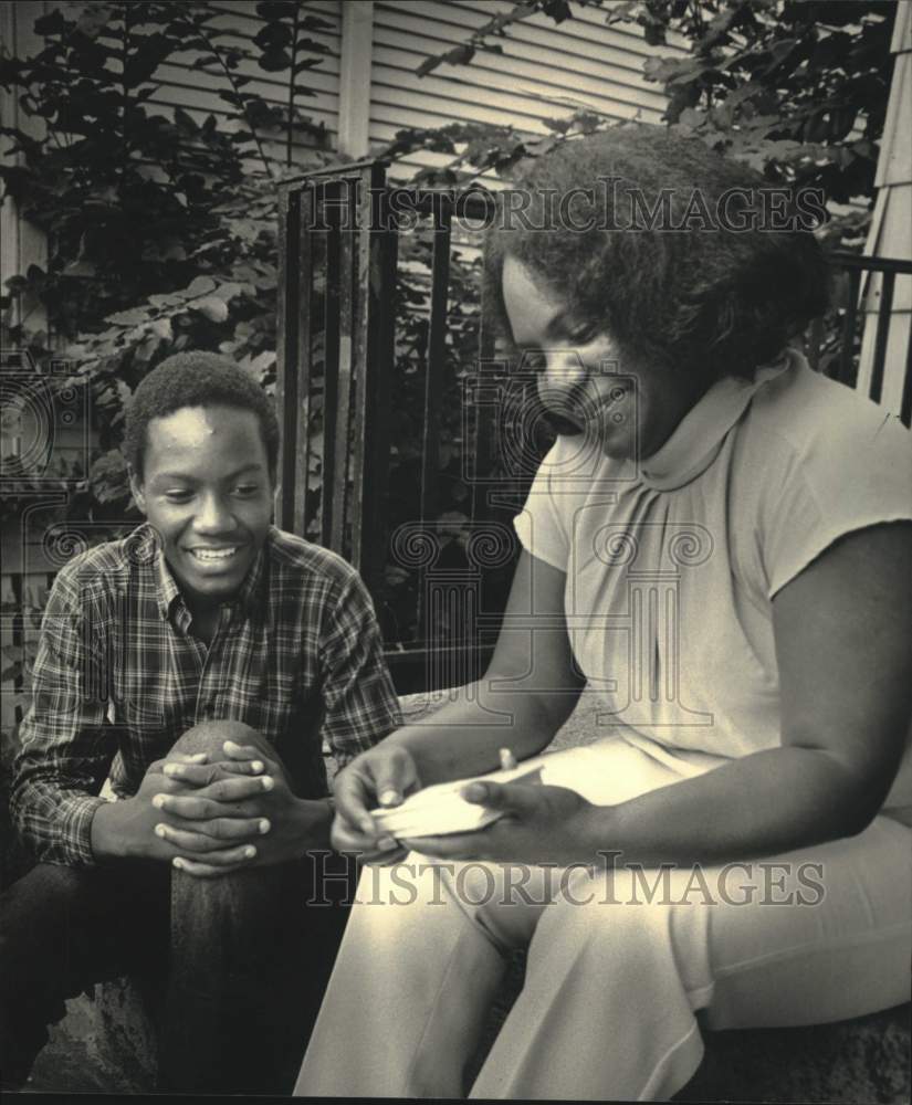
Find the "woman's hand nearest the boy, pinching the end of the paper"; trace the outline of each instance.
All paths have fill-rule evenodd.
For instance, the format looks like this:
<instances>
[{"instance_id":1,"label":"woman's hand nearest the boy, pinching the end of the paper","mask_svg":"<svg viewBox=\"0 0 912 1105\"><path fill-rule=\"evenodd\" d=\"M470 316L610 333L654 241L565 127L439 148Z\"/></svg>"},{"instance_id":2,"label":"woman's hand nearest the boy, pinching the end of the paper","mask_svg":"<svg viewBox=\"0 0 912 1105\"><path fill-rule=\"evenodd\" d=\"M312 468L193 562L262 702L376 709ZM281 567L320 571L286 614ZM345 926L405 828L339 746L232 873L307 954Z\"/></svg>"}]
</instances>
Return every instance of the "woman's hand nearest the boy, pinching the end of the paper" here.
<instances>
[{"instance_id":1,"label":"woman's hand nearest the boy, pinching the end of the paper","mask_svg":"<svg viewBox=\"0 0 912 1105\"><path fill-rule=\"evenodd\" d=\"M380 831L370 810L399 806L420 789L415 759L401 745L379 744L361 753L336 776L333 848L338 852L360 852L365 863L392 863L400 859L406 850Z\"/></svg>"}]
</instances>

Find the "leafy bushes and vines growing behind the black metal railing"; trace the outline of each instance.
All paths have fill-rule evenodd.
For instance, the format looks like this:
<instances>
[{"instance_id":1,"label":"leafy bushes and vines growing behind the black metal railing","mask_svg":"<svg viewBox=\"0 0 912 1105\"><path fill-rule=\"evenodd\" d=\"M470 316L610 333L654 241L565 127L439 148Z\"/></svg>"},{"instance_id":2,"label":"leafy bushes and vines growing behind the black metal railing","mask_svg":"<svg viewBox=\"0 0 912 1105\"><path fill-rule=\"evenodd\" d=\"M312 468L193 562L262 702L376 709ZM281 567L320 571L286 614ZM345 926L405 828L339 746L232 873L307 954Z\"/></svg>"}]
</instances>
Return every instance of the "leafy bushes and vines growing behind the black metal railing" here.
<instances>
[{"instance_id":1,"label":"leafy bushes and vines growing behind the black metal railing","mask_svg":"<svg viewBox=\"0 0 912 1105\"><path fill-rule=\"evenodd\" d=\"M464 43L422 62L471 64L479 51L502 51L511 28L535 14L556 23L576 9L604 8L608 23L639 27L660 46L670 36L685 54L647 59L644 74L669 96L670 126L743 158L774 181L822 188L843 212L822 235L860 244L873 199L883 126L894 3L795 3L792 0L527 0L495 15ZM124 402L156 364L185 348L221 350L265 387L275 371L276 181L335 160L306 115L310 74L328 48L327 24L300 0L255 6L252 43L226 29L224 13L203 0L107 2L50 11L35 24L45 45L32 57L0 60L0 85L19 96L31 124L6 129L18 164L0 168L20 213L48 235L45 269L32 266L2 290L9 307L41 303L54 329L25 322L3 344L36 358L72 359L93 393L98 450L69 509L77 517L135 517L118 450ZM155 106L163 66L181 60L214 81L227 125ZM251 91L256 71L282 76L282 103ZM415 183L465 183L482 173L509 180L524 158L615 125L590 108L543 120L544 136L507 126L453 123L403 130L378 152L416 149L450 155ZM422 387L430 292L427 235L403 236L397 291L397 345L389 520L417 516ZM478 337L476 256L458 252L451 266L452 333L447 346L441 495L438 517L464 540L468 488L461 482L460 378L474 369ZM835 333L835 330L834 330ZM322 420L319 345L314 365L314 442ZM319 486L318 457L310 490ZM28 492L28 473L23 473ZM17 507L17 501L11 506ZM8 503L8 509L10 504ZM315 522L316 519L314 519ZM313 532L313 530L312 530ZM413 633L415 579L390 564L380 598L392 639Z\"/></svg>"}]
</instances>

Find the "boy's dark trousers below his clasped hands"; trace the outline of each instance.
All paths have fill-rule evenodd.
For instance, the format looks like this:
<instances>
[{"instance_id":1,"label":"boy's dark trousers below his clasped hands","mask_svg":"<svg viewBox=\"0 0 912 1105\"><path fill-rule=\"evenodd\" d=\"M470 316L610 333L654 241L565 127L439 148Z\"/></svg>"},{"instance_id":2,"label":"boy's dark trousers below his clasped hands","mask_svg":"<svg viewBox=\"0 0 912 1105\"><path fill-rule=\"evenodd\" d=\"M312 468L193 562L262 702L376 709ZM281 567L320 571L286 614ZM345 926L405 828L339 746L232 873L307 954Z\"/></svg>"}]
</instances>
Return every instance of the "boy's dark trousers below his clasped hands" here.
<instances>
[{"instance_id":1,"label":"boy's dark trousers below his clasped hands","mask_svg":"<svg viewBox=\"0 0 912 1105\"><path fill-rule=\"evenodd\" d=\"M342 937L346 901L354 896L354 865L317 854L242 875L250 893L242 883L239 896L235 884L233 901L247 896L256 905L240 924L213 909L209 883L199 908L192 899L188 907L184 895L175 926L164 864L39 864L4 891L4 1085L28 1077L46 1025L64 1014L64 998L130 975L146 980L157 1014L158 1088L289 1093ZM175 927L184 930L182 951L171 946Z\"/></svg>"}]
</instances>

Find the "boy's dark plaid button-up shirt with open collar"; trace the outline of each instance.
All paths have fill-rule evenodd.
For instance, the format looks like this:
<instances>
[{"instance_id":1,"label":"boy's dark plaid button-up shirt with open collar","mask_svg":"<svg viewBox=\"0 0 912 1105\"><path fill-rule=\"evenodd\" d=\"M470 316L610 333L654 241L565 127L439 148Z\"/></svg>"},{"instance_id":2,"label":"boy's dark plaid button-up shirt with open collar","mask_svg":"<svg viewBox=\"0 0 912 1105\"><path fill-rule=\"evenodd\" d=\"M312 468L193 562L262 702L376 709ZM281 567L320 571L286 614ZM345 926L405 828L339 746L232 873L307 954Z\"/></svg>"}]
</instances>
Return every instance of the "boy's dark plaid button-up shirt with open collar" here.
<instances>
[{"instance_id":1,"label":"boy's dark plaid button-up shirt with open collar","mask_svg":"<svg viewBox=\"0 0 912 1105\"><path fill-rule=\"evenodd\" d=\"M11 801L40 860L93 864L108 772L135 793L199 722L234 718L291 748L303 797L328 792L324 749L342 767L401 724L370 597L334 552L273 527L208 649L190 623L147 525L57 575Z\"/></svg>"}]
</instances>

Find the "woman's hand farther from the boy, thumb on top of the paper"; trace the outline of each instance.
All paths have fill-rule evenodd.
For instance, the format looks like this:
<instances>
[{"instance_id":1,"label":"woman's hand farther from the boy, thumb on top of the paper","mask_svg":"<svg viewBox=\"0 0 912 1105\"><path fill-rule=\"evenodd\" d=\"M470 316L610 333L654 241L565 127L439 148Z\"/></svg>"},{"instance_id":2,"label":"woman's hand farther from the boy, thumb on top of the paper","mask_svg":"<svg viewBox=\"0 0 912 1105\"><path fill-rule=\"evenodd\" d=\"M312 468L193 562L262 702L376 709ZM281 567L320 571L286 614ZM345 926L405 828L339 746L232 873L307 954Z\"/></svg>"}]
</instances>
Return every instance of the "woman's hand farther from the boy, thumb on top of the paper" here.
<instances>
[{"instance_id":1,"label":"woman's hand farther from the boy, thumb on top of the paper","mask_svg":"<svg viewBox=\"0 0 912 1105\"><path fill-rule=\"evenodd\" d=\"M402 841L416 852L443 860L515 863L589 863L596 860L591 814L598 809L566 787L525 782L472 782L467 801L504 815L476 832L448 833Z\"/></svg>"}]
</instances>

